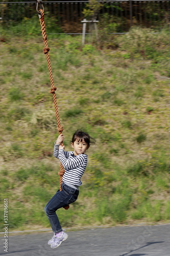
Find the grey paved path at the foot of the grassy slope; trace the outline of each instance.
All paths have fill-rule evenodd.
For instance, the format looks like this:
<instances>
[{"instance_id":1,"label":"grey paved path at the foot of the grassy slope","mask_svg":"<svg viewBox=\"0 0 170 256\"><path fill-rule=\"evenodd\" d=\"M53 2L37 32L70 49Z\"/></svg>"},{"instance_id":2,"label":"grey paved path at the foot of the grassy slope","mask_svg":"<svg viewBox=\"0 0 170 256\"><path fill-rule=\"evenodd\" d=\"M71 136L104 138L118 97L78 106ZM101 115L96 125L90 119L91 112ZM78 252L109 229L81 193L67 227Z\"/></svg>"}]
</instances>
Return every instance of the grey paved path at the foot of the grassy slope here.
<instances>
[{"instance_id":1,"label":"grey paved path at the foot of the grassy slope","mask_svg":"<svg viewBox=\"0 0 170 256\"><path fill-rule=\"evenodd\" d=\"M67 231L68 239L51 249L52 232L12 236L8 252L1 237L0 255L8 256L170 256L170 224ZM3 234L0 234L3 236Z\"/></svg>"}]
</instances>

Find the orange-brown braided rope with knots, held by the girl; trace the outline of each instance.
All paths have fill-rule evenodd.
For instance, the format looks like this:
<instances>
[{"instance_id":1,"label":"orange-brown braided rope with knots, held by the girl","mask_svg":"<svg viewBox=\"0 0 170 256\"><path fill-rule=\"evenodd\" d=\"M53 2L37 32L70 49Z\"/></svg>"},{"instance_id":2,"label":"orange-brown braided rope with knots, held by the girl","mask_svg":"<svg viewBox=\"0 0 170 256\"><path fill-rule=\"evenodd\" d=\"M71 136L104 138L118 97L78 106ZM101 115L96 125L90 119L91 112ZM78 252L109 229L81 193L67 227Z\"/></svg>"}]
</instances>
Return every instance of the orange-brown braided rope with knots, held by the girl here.
<instances>
[{"instance_id":1,"label":"orange-brown braided rope with knots, held by the girl","mask_svg":"<svg viewBox=\"0 0 170 256\"><path fill-rule=\"evenodd\" d=\"M56 94L55 91L57 90L57 88L54 86L54 81L53 81L53 74L52 74L52 68L51 68L51 61L50 61L50 55L49 55L49 51L50 48L48 48L47 46L47 36L46 36L46 31L45 31L45 23L44 23L44 12L42 9L40 9L40 24L41 24L41 32L42 32L42 37L44 40L44 54L46 55L46 59L47 59L47 63L48 63L48 71L50 74L50 81L51 81L51 93L53 94L53 101L54 101L54 107L55 107L55 112L56 112L56 119L57 119L57 130L59 131L59 134L62 133L63 131L63 126L60 124L60 119L59 119L59 112L58 112L58 106L57 106L57 98L56 98ZM63 146L63 143L61 143L61 145ZM60 163L60 172L58 173L58 175L60 176L60 191L61 191L61 184L62 184L62 176L64 174L65 170L62 166L62 163ZM65 209L69 208L69 205L64 207Z\"/></svg>"}]
</instances>

